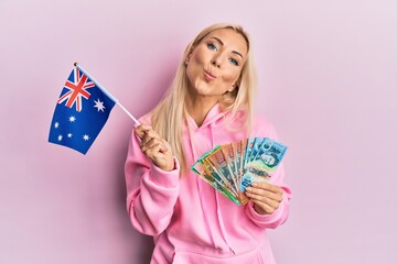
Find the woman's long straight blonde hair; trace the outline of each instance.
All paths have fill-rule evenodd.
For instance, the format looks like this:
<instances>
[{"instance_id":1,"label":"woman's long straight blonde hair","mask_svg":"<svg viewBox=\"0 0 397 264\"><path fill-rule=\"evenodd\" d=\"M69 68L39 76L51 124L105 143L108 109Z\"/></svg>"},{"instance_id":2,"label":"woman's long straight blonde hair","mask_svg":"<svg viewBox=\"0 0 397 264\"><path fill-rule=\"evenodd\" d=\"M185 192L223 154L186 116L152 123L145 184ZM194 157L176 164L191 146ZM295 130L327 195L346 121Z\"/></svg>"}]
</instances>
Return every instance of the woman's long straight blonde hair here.
<instances>
[{"instance_id":1,"label":"woman's long straight blonde hair","mask_svg":"<svg viewBox=\"0 0 397 264\"><path fill-rule=\"evenodd\" d=\"M182 129L185 122L185 96L189 85L185 61L190 53L207 34L218 29L232 29L242 34L246 40L248 47L247 59L243 66L240 77L237 80L237 87L232 92L226 92L222 96L219 107L223 111L232 111L230 119L235 117L237 110L245 109L247 111L245 125L249 127L251 122L254 90L256 88L256 70L253 64L249 36L240 25L224 23L213 24L200 32L200 34L187 45L170 88L161 102L154 108L152 114L152 128L170 143L173 154L180 162L181 173L187 169L182 145Z\"/></svg>"}]
</instances>

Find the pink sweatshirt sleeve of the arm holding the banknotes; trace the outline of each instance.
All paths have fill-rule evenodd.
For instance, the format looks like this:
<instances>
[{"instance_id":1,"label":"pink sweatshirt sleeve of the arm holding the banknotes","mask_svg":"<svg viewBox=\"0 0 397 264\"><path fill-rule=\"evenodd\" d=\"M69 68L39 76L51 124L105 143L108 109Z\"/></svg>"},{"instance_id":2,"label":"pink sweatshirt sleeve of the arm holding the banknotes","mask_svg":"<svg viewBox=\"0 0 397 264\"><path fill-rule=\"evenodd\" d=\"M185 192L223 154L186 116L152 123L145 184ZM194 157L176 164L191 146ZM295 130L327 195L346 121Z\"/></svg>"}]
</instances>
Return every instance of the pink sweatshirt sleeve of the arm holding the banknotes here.
<instances>
[{"instance_id":1,"label":"pink sweatshirt sleeve of the arm holding the banknotes","mask_svg":"<svg viewBox=\"0 0 397 264\"><path fill-rule=\"evenodd\" d=\"M278 141L273 127L267 120L259 120L254 128L251 136L267 136ZM260 215L254 209L254 202L249 201L246 206L248 218L258 227L265 229L276 229L287 221L289 216L289 200L292 197L291 189L285 184L285 168L282 162L270 179L270 184L277 185L283 189L282 201L271 215Z\"/></svg>"}]
</instances>

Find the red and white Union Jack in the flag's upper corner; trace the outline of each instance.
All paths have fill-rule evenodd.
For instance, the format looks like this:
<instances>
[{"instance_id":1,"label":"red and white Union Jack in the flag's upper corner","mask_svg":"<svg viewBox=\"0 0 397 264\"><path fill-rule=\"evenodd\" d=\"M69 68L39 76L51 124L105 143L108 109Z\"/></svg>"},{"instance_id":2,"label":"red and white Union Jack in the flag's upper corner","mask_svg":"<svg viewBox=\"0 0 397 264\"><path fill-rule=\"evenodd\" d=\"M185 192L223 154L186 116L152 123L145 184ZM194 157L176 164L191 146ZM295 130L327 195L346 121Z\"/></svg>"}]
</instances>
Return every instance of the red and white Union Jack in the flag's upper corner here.
<instances>
[{"instance_id":1,"label":"red and white Union Jack in the flag's upper corner","mask_svg":"<svg viewBox=\"0 0 397 264\"><path fill-rule=\"evenodd\" d=\"M71 78L72 77L72 78ZM58 99L58 103L66 101L66 107L72 108L76 105L77 112L82 111L82 97L88 99L90 94L87 89L95 87L94 81L83 74L79 68L74 68L69 79L66 80L64 88L68 91Z\"/></svg>"}]
</instances>

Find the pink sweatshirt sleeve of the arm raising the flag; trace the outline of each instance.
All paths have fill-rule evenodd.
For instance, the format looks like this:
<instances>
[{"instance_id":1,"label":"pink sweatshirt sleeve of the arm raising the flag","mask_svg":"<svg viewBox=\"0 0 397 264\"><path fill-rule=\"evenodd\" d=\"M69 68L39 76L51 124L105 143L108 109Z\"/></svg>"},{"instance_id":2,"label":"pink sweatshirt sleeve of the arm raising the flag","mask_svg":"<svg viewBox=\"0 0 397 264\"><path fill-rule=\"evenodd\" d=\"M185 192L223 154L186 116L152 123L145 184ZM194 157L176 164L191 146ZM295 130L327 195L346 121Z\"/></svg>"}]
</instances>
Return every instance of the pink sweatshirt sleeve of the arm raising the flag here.
<instances>
[{"instance_id":1,"label":"pink sweatshirt sleeve of the arm raising the flag","mask_svg":"<svg viewBox=\"0 0 397 264\"><path fill-rule=\"evenodd\" d=\"M127 211L132 226L141 233L157 235L169 226L179 195L178 160L175 168L164 172L140 150L132 131L125 164Z\"/></svg>"}]
</instances>

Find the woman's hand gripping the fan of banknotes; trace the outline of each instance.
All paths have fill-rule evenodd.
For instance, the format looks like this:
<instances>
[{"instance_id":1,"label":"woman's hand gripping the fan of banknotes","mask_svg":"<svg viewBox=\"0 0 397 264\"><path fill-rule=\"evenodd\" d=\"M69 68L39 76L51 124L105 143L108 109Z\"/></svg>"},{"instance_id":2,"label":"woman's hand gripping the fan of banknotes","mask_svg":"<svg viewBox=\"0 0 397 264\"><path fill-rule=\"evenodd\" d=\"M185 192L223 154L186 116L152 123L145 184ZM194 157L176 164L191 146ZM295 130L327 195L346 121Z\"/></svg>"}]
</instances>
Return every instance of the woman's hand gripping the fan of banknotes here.
<instances>
[{"instance_id":1,"label":"woman's hand gripping the fan of banknotes","mask_svg":"<svg viewBox=\"0 0 397 264\"><path fill-rule=\"evenodd\" d=\"M271 215L280 206L283 190L268 183L254 183L251 187L246 188L245 194L254 202L258 213Z\"/></svg>"}]
</instances>

